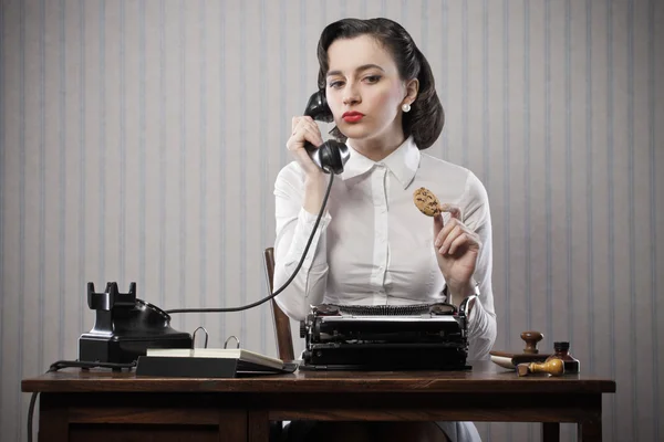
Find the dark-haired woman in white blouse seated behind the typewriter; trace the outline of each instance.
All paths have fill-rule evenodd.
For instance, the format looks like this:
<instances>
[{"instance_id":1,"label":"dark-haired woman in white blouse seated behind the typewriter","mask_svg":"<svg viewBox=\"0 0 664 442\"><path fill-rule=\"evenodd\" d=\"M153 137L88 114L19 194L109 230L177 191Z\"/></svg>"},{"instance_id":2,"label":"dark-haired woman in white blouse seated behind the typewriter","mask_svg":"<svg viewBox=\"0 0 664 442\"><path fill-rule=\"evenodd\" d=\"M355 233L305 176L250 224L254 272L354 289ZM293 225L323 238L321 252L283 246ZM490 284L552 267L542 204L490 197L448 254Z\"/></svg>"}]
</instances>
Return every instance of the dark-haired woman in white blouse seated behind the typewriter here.
<instances>
[{"instance_id":1,"label":"dark-haired woman in white blouse seated behind the typewriter","mask_svg":"<svg viewBox=\"0 0 664 442\"><path fill-rule=\"evenodd\" d=\"M477 294L468 319L469 360L488 356L496 339L491 293L491 221L486 190L469 170L422 150L444 124L432 70L411 35L387 19L344 19L319 41L319 88L325 91L336 134L350 159L333 183L307 260L276 298L291 318L321 303L404 305ZM274 286L292 275L312 232L330 178L304 143L323 140L310 117L294 117L287 143L294 161L274 185ZM418 211L413 192L432 190L450 208L434 220ZM367 435L381 425L328 425ZM385 423L384 434L408 440L476 441L469 422ZM315 432L315 431L313 431ZM403 435L403 434L402 434ZM318 434L317 434L318 436Z\"/></svg>"}]
</instances>

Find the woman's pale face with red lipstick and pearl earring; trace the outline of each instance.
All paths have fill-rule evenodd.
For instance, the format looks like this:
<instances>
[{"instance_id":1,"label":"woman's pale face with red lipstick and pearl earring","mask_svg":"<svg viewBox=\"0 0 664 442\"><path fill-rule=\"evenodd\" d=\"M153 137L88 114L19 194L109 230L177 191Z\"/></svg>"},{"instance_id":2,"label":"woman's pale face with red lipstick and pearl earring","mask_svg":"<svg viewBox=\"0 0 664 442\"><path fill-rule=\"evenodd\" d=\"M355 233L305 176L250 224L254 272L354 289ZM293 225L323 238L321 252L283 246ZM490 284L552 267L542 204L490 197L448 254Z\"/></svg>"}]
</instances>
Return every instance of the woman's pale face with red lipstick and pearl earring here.
<instances>
[{"instance_id":1,"label":"woman's pale face with red lipstick and pearl earring","mask_svg":"<svg viewBox=\"0 0 664 442\"><path fill-rule=\"evenodd\" d=\"M328 60L325 94L341 133L363 141L403 140L401 106L415 96L392 55L373 36L360 35L335 40Z\"/></svg>"}]
</instances>

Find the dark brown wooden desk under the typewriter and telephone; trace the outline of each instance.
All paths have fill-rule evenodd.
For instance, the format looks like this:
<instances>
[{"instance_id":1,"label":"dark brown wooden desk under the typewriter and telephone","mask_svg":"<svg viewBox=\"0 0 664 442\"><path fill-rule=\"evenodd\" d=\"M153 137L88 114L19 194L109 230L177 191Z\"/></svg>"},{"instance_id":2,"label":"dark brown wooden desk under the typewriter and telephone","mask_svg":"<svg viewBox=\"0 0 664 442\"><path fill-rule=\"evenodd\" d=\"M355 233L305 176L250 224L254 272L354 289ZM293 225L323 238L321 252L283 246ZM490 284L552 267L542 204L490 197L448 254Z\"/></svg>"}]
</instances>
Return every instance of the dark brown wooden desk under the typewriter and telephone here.
<instances>
[{"instance_id":1,"label":"dark brown wooden desk under the typewriter and telephone","mask_svg":"<svg viewBox=\"0 0 664 442\"><path fill-rule=\"evenodd\" d=\"M312 372L245 379L137 378L66 369L24 379L41 392L40 442L267 441L282 420L577 422L579 441L602 440L602 393L587 375L519 378L488 361L468 372Z\"/></svg>"}]
</instances>

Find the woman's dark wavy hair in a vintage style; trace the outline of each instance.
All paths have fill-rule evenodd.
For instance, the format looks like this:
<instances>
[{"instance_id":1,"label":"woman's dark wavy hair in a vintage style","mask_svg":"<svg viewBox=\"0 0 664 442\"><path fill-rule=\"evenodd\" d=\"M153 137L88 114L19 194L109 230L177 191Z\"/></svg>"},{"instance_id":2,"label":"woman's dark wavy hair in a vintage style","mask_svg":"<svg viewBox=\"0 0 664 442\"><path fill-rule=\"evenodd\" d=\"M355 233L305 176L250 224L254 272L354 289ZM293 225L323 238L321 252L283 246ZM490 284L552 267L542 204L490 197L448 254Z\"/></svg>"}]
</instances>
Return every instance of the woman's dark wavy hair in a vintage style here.
<instances>
[{"instance_id":1,"label":"woman's dark wavy hair in a vintage style","mask_svg":"<svg viewBox=\"0 0 664 442\"><path fill-rule=\"evenodd\" d=\"M319 88L325 90L325 80L330 70L328 49L332 42L360 35L373 36L392 54L402 80L419 81L419 90L415 102L411 104L411 112L403 114L403 130L406 138L413 135L419 149L430 147L443 130L445 112L436 94L432 67L411 34L395 21L383 18L343 19L325 27L318 44ZM345 136L338 128L334 128L332 134L345 140Z\"/></svg>"}]
</instances>

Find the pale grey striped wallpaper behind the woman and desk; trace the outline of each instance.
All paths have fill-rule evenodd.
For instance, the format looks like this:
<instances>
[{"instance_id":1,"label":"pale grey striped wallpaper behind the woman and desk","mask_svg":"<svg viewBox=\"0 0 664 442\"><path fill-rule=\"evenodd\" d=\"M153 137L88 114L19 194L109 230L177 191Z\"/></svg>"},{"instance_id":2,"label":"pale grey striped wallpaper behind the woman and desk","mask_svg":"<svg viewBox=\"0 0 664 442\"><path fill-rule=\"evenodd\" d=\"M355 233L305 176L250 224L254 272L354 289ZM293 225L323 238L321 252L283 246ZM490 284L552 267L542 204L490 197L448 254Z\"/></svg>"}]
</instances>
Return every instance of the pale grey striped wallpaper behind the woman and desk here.
<instances>
[{"instance_id":1,"label":"pale grey striped wallpaper behind the woman and desk","mask_svg":"<svg viewBox=\"0 0 664 442\"><path fill-rule=\"evenodd\" d=\"M2 441L25 440L20 380L76 358L86 282L135 281L166 309L267 295L272 185L318 35L377 15L434 70L447 118L429 151L488 189L495 348L522 349L526 329L546 351L569 339L618 381L605 440L664 440L663 2L0 1ZM173 325L276 354L264 306ZM478 428L539 440L536 424Z\"/></svg>"}]
</instances>

